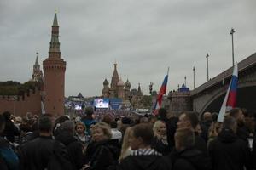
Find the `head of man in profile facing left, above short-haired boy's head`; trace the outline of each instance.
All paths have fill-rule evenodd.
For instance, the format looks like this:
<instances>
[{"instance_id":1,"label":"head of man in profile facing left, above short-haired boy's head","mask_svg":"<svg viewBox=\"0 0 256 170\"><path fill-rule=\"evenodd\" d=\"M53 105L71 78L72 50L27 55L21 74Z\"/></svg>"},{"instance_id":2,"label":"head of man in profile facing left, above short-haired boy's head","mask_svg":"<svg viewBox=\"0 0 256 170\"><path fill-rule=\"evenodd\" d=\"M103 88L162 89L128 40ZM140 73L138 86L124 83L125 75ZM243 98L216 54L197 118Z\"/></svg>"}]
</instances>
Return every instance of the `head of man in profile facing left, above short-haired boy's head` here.
<instances>
[{"instance_id":1,"label":"head of man in profile facing left, above short-haired boy's head","mask_svg":"<svg viewBox=\"0 0 256 170\"><path fill-rule=\"evenodd\" d=\"M189 127L195 130L198 123L198 116L195 112L184 112L179 116L177 128Z\"/></svg>"}]
</instances>

